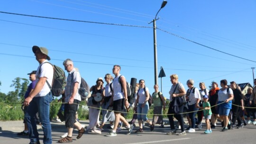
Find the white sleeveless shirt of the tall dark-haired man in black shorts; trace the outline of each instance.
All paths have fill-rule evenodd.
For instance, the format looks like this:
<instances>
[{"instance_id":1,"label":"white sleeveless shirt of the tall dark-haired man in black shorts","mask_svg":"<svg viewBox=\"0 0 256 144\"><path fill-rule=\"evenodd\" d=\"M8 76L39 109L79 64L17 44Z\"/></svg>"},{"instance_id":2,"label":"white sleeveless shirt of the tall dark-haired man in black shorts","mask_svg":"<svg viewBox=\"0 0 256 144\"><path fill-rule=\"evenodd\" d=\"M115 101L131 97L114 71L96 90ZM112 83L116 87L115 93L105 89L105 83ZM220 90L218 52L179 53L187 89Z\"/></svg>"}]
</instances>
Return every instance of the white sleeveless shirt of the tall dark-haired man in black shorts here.
<instances>
[{"instance_id":1,"label":"white sleeveless shirt of the tall dark-haired man in black shorts","mask_svg":"<svg viewBox=\"0 0 256 144\"><path fill-rule=\"evenodd\" d=\"M119 78L120 75L121 74L119 74L113 80L113 84L112 84L112 86L113 86L113 93L114 93L113 100L124 99L124 92L122 92L121 84L118 81L118 78ZM124 77L124 76L122 75L122 77ZM125 87L126 87L126 85L125 85Z\"/></svg>"}]
</instances>

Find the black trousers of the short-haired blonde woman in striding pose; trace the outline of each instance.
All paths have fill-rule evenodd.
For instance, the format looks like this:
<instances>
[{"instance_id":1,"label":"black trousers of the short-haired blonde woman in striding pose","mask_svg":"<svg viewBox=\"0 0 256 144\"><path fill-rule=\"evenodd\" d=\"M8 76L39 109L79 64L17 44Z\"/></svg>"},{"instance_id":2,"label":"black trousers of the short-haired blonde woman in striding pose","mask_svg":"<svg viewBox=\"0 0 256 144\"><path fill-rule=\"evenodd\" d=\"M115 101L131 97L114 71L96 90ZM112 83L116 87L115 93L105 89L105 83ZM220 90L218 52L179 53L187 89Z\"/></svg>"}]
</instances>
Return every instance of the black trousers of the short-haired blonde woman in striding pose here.
<instances>
[{"instance_id":1,"label":"black trousers of the short-haired blonde woman in striding pose","mask_svg":"<svg viewBox=\"0 0 256 144\"><path fill-rule=\"evenodd\" d=\"M180 113L183 113L183 108L184 108L184 105L179 106ZM173 106L171 106L171 105L169 106L169 109L168 109L168 119L169 119L169 123L171 126L171 130L175 129L175 127L174 127L174 117L175 117L178 120L178 122L180 123L181 130L183 132L185 130L184 122L183 122L183 114L174 114L174 115L169 115L169 114L174 114Z\"/></svg>"}]
</instances>

